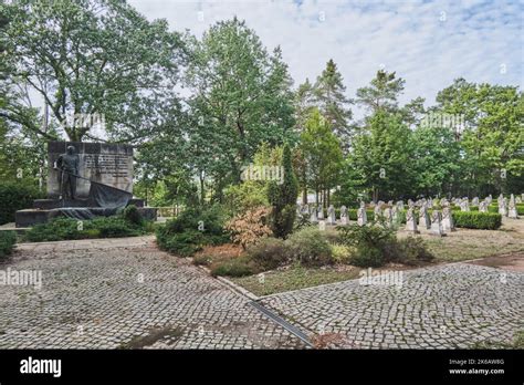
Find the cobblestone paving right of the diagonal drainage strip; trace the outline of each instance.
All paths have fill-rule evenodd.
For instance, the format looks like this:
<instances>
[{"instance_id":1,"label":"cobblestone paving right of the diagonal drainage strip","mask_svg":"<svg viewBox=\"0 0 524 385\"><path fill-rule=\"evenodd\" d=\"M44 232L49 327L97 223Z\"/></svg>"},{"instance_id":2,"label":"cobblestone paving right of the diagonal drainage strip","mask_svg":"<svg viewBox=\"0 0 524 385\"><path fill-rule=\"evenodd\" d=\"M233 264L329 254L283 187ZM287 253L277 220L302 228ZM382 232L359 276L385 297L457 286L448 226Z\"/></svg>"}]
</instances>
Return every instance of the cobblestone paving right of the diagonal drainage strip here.
<instances>
[{"instance_id":1,"label":"cobblestone paving right of the diagonal drainage strip","mask_svg":"<svg viewBox=\"0 0 524 385\"><path fill-rule=\"evenodd\" d=\"M261 302L305 333L349 348L468 348L478 341L511 343L524 327L521 272L457 263L402 279L400 289L352 280Z\"/></svg>"}]
</instances>

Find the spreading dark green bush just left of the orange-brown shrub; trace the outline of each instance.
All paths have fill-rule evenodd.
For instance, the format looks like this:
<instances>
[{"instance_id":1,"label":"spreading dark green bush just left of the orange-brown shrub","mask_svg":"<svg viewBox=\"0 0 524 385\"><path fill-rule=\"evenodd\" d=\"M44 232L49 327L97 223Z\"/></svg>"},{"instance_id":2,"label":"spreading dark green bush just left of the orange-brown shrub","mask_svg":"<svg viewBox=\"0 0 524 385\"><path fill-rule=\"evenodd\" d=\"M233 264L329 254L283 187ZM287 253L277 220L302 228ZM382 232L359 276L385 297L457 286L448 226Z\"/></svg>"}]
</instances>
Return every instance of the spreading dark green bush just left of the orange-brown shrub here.
<instances>
[{"instance_id":1,"label":"spreading dark green bush just left of the orange-brown shrub","mask_svg":"<svg viewBox=\"0 0 524 385\"><path fill-rule=\"evenodd\" d=\"M208 209L189 208L156 231L158 247L179 256L191 256L206 244L229 241L223 230L226 215L213 206Z\"/></svg>"}]
</instances>

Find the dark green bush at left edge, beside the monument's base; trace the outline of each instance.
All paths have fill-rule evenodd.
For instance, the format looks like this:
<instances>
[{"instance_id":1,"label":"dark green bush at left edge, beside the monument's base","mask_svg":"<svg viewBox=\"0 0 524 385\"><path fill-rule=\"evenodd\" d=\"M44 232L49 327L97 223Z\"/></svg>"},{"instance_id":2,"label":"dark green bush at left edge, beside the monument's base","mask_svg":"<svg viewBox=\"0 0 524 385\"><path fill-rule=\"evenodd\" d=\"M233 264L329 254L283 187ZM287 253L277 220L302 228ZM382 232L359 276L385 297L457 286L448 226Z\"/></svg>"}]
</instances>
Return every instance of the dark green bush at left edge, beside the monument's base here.
<instances>
[{"instance_id":1,"label":"dark green bush at left edge, beside the monument's base","mask_svg":"<svg viewBox=\"0 0 524 385\"><path fill-rule=\"evenodd\" d=\"M14 221L14 212L33 207L43 195L36 187L20 181L0 183L0 225Z\"/></svg>"}]
</instances>

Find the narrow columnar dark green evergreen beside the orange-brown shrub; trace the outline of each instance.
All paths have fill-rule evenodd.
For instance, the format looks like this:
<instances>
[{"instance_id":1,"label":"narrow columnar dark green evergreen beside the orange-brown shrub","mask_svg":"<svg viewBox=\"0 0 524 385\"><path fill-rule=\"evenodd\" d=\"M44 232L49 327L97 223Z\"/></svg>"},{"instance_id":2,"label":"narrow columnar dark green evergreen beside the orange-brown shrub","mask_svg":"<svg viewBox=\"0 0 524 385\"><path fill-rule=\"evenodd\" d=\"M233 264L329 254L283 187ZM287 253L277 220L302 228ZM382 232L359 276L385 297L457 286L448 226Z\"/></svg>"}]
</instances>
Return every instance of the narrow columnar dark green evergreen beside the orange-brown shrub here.
<instances>
[{"instance_id":1,"label":"narrow columnar dark green evergreen beside the orange-brown shrub","mask_svg":"<svg viewBox=\"0 0 524 385\"><path fill-rule=\"evenodd\" d=\"M285 239L293 231L296 216L296 196L298 195L298 184L293 171L289 145L284 146L282 167L284 181L282 185L272 181L268 189L268 198L273 207L271 214L273 233L275 237Z\"/></svg>"}]
</instances>

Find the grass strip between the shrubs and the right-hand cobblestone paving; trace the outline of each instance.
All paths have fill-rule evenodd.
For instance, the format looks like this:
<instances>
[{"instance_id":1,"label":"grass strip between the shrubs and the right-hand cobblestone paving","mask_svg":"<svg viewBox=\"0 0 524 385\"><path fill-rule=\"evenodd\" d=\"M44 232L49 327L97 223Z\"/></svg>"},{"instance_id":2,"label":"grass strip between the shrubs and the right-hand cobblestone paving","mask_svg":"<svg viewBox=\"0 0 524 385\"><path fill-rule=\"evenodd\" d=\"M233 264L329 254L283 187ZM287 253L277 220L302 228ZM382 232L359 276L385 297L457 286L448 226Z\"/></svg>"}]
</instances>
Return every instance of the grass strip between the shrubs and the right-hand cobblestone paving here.
<instances>
[{"instance_id":1,"label":"grass strip between the shrubs and the right-hand cobblestone paving","mask_svg":"<svg viewBox=\"0 0 524 385\"><path fill-rule=\"evenodd\" d=\"M304 268L293 264L285 270L265 272L263 280L259 275L232 278L231 281L255 295L270 295L290 290L316 287L325 283L347 281L358 278L356 268Z\"/></svg>"}]
</instances>

